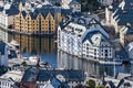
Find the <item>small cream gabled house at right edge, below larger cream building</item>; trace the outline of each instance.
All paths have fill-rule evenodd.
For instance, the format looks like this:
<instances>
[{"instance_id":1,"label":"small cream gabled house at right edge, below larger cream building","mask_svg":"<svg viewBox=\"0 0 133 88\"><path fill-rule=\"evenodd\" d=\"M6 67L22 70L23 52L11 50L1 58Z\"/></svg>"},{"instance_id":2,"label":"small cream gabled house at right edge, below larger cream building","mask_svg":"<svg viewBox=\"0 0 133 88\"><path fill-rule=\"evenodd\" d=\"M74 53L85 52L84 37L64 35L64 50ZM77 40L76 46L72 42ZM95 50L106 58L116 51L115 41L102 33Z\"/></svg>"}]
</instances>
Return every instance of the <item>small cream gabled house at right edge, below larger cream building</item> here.
<instances>
[{"instance_id":1,"label":"small cream gabled house at right edge, below larger cream building","mask_svg":"<svg viewBox=\"0 0 133 88\"><path fill-rule=\"evenodd\" d=\"M124 28L121 29L120 41L123 46L133 42L133 26L125 25Z\"/></svg>"}]
</instances>

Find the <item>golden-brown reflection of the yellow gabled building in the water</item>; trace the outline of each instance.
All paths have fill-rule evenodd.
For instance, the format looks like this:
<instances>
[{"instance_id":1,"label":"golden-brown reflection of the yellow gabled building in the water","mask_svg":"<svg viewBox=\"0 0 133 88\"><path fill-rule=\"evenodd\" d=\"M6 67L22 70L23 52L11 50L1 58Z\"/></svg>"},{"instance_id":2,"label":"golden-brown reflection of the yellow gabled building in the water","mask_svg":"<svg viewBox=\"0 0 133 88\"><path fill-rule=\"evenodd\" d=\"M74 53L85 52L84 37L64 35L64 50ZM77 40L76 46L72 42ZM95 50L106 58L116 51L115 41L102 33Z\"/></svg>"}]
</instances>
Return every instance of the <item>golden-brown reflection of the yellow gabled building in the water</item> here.
<instances>
[{"instance_id":1,"label":"golden-brown reflection of the yellow gabled building in the water","mask_svg":"<svg viewBox=\"0 0 133 88\"><path fill-rule=\"evenodd\" d=\"M53 36L31 36L13 34L12 38L19 42L21 53L43 54L53 53L57 50Z\"/></svg>"}]
</instances>

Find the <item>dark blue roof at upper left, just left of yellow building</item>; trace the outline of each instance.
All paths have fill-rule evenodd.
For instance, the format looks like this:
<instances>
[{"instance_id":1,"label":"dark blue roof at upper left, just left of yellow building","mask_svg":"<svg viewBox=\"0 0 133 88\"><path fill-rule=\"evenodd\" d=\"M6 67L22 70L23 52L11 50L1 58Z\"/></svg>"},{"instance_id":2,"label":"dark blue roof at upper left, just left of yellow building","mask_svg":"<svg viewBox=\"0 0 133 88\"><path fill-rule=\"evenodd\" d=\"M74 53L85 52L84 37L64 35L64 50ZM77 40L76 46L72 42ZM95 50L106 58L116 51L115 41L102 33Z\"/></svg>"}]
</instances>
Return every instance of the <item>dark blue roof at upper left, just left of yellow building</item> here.
<instances>
[{"instance_id":1,"label":"dark blue roof at upper left, just left of yellow building","mask_svg":"<svg viewBox=\"0 0 133 88\"><path fill-rule=\"evenodd\" d=\"M19 9L14 4L11 4L10 9L6 10L6 14L8 15L19 14Z\"/></svg>"}]
</instances>

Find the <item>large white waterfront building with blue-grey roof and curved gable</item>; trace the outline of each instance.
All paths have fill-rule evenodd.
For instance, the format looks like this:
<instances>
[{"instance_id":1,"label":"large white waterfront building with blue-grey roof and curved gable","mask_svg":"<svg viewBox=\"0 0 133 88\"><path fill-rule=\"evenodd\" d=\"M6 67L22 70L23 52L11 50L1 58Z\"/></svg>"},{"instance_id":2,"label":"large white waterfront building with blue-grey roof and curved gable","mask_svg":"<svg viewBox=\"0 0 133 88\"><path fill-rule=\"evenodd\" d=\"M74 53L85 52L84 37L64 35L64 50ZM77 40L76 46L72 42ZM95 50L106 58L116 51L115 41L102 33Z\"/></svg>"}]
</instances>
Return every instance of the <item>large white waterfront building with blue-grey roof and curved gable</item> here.
<instances>
[{"instance_id":1,"label":"large white waterfront building with blue-grey roof and curved gable","mask_svg":"<svg viewBox=\"0 0 133 88\"><path fill-rule=\"evenodd\" d=\"M88 59L111 61L114 50L109 38L109 34L94 19L89 24L83 19L76 19L76 22L58 29L58 48Z\"/></svg>"}]
</instances>

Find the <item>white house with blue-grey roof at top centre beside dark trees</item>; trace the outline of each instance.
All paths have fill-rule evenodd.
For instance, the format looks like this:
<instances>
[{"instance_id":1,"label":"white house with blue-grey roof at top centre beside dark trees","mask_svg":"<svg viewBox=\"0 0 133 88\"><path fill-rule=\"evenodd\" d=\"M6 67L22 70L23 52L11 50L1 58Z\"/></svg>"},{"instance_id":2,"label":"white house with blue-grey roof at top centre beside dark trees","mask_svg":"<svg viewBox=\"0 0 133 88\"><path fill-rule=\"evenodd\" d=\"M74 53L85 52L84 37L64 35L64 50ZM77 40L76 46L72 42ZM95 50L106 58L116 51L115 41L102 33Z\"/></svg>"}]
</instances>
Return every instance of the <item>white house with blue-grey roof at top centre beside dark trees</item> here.
<instances>
[{"instance_id":1,"label":"white house with blue-grey roof at top centre beside dark trees","mask_svg":"<svg viewBox=\"0 0 133 88\"><path fill-rule=\"evenodd\" d=\"M72 9L73 12L81 12L81 3L76 0L72 0L70 3L70 9Z\"/></svg>"}]
</instances>

